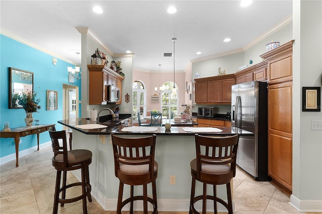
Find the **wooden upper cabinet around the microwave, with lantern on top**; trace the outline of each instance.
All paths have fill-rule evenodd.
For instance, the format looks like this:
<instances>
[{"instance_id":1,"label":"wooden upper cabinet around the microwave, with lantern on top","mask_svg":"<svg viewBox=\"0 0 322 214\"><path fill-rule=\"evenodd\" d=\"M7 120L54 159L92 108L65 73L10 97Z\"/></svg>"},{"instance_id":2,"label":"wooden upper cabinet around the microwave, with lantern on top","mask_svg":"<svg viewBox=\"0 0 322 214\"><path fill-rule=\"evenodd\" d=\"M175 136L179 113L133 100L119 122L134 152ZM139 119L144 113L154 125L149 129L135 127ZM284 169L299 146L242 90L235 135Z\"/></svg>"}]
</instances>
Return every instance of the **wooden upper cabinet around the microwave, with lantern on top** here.
<instances>
[{"instance_id":1,"label":"wooden upper cabinet around the microwave, with lantern on top","mask_svg":"<svg viewBox=\"0 0 322 214\"><path fill-rule=\"evenodd\" d=\"M122 81L124 76L116 73L112 69L104 65L88 65L89 69L89 104L100 105L106 103L107 85L110 83L120 88L121 98L116 104L122 102Z\"/></svg>"}]
</instances>

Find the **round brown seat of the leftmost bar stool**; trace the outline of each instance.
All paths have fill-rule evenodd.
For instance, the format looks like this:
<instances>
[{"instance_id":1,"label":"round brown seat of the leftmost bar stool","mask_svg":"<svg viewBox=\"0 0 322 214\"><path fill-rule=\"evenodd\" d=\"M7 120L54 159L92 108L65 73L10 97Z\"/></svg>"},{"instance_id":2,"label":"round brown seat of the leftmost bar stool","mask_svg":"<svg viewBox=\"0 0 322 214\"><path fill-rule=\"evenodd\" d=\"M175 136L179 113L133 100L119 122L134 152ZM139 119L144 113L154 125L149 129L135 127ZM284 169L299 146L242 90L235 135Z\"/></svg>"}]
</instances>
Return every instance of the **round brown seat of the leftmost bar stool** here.
<instances>
[{"instance_id":1,"label":"round brown seat of the leftmost bar stool","mask_svg":"<svg viewBox=\"0 0 322 214\"><path fill-rule=\"evenodd\" d=\"M92 152L85 149L75 149L67 151L67 159L68 159L68 165L74 166L76 164L86 162L88 160L92 159ZM61 162L63 163L63 155L58 154L55 157L52 158L53 162Z\"/></svg>"}]
</instances>

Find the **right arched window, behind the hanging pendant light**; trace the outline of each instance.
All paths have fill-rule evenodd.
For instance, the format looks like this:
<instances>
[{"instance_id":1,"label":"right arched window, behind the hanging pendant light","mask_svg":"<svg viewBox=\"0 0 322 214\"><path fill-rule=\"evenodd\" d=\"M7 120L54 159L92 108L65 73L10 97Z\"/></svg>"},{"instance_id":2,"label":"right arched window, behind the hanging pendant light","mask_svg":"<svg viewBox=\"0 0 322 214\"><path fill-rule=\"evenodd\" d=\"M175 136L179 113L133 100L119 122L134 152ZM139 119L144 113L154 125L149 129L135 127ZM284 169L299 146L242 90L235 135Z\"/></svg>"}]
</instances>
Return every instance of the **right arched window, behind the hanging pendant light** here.
<instances>
[{"instance_id":1,"label":"right arched window, behind the hanging pendant light","mask_svg":"<svg viewBox=\"0 0 322 214\"><path fill-rule=\"evenodd\" d=\"M164 84L164 88L166 88L162 93L162 102L161 102L161 109L162 109L162 115L165 117L171 118L171 113L174 114L174 117L178 115L178 103L179 103L179 89L176 85L177 93L173 93L173 82L166 82Z\"/></svg>"}]
</instances>

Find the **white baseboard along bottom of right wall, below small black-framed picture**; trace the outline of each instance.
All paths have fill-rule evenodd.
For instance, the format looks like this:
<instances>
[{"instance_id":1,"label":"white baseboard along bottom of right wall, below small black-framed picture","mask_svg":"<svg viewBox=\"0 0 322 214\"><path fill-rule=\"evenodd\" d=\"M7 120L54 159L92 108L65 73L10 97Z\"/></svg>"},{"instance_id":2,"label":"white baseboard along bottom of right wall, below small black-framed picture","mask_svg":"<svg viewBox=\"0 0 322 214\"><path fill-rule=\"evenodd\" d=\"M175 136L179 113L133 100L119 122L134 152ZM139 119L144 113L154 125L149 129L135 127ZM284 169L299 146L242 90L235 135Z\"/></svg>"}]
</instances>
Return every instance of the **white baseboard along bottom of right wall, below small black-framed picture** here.
<instances>
[{"instance_id":1,"label":"white baseboard along bottom of right wall, below small black-framed picture","mask_svg":"<svg viewBox=\"0 0 322 214\"><path fill-rule=\"evenodd\" d=\"M290 204L300 212L322 212L322 200L300 200L292 194Z\"/></svg>"}]
</instances>

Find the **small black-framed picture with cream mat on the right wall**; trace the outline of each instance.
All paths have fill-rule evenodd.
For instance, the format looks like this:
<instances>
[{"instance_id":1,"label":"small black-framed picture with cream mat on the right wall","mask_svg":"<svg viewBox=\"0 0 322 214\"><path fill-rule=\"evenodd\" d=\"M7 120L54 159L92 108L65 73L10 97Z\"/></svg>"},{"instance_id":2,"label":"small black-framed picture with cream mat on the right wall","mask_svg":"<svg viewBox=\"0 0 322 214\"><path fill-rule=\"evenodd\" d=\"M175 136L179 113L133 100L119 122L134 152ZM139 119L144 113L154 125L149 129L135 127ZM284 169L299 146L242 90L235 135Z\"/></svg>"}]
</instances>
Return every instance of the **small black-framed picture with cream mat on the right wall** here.
<instances>
[{"instance_id":1,"label":"small black-framed picture with cream mat on the right wall","mask_svg":"<svg viewBox=\"0 0 322 214\"><path fill-rule=\"evenodd\" d=\"M302 112L320 112L320 87L302 87Z\"/></svg>"}]
</instances>

